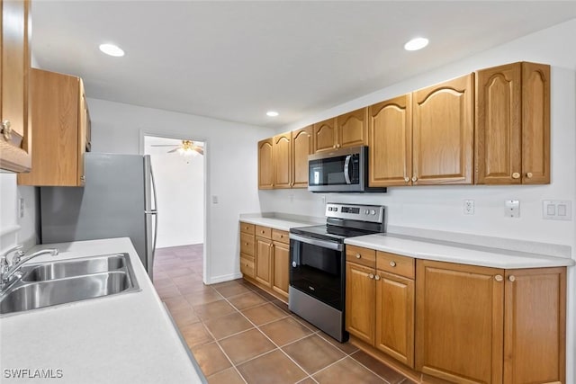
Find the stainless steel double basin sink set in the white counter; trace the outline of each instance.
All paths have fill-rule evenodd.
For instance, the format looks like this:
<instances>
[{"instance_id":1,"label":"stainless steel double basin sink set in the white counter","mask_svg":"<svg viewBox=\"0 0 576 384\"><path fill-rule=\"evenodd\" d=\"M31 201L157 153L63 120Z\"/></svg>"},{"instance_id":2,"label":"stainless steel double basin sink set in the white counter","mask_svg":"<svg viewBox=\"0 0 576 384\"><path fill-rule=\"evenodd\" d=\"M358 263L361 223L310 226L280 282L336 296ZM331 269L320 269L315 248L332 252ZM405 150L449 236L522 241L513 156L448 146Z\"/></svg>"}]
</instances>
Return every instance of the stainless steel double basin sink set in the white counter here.
<instances>
[{"instance_id":1,"label":"stainless steel double basin sink set in the white counter","mask_svg":"<svg viewBox=\"0 0 576 384\"><path fill-rule=\"evenodd\" d=\"M24 265L0 294L0 315L139 290L130 256L113 254Z\"/></svg>"}]
</instances>

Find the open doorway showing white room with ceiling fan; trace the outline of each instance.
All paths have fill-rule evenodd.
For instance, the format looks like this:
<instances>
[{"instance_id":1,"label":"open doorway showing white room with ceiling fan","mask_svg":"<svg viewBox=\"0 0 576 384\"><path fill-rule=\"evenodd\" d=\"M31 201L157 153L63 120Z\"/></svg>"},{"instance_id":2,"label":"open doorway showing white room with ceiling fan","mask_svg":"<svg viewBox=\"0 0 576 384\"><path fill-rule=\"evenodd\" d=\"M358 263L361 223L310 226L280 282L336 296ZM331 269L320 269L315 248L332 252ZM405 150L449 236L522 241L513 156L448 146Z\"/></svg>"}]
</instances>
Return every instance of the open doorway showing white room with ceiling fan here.
<instances>
[{"instance_id":1,"label":"open doorway showing white room with ceiling fan","mask_svg":"<svg viewBox=\"0 0 576 384\"><path fill-rule=\"evenodd\" d=\"M154 285L169 297L203 280L205 143L145 135L143 144L157 190Z\"/></svg>"}]
</instances>

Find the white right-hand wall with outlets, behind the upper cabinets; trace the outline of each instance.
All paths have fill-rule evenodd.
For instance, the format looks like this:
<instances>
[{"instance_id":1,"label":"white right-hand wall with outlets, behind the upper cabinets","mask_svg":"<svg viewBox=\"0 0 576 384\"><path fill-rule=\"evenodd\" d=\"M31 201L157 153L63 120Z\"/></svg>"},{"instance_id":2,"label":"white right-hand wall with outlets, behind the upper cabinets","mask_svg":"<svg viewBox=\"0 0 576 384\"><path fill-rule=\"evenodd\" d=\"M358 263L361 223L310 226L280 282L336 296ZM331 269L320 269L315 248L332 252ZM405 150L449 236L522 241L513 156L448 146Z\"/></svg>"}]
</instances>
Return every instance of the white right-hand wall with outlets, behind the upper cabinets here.
<instances>
[{"instance_id":1,"label":"white right-hand wall with outlets, behind the upper cabinets","mask_svg":"<svg viewBox=\"0 0 576 384\"><path fill-rule=\"evenodd\" d=\"M576 36L576 20L564 22L545 31L539 31L498 48L490 49L456 62L450 66L411 78L329 111L310 116L284 129L296 129L343 112L355 110L400 94L462 76L482 67L492 67L515 61L536 61L552 66L551 106L551 183L535 186L438 186L396 187L386 194L329 194L327 201L378 203L388 208L388 224L394 226L430 228L491 237L509 237L519 240L576 246L574 221L542 219L543 200L570 200L576 198L576 49L568 44L568 36ZM261 206L266 211L294 214L323 214L321 195L306 191L261 191ZM464 199L473 199L476 212L464 216ZM504 201L520 201L520 218L504 217ZM572 211L574 217L574 211ZM568 272L567 317L567 381L576 382L576 273Z\"/></svg>"}]
</instances>

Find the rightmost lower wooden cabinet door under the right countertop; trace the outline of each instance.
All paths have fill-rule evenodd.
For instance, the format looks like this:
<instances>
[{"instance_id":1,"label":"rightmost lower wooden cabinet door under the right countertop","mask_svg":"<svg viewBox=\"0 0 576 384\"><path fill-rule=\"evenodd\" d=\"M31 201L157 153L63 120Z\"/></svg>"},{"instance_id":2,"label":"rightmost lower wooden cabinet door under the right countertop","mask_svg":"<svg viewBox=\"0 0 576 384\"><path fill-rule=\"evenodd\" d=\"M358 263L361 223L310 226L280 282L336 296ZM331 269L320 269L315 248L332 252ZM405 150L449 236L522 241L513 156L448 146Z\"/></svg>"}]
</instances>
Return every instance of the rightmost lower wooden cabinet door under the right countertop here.
<instances>
[{"instance_id":1,"label":"rightmost lower wooden cabinet door under the right countertop","mask_svg":"<svg viewBox=\"0 0 576 384\"><path fill-rule=\"evenodd\" d=\"M504 382L566 382L566 268L506 272Z\"/></svg>"}]
</instances>

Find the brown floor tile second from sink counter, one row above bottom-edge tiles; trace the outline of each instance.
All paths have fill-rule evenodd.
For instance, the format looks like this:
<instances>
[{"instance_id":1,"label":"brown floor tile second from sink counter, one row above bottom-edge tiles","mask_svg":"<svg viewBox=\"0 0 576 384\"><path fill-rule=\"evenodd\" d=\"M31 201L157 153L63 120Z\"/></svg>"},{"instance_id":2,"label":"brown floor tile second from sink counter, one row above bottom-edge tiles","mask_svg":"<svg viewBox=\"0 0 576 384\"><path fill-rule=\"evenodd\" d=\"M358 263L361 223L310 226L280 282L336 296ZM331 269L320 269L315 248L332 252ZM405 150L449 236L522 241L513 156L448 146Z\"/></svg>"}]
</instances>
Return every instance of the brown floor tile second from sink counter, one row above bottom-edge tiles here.
<instances>
[{"instance_id":1,"label":"brown floor tile second from sink counter, one row above bottom-edge tiles","mask_svg":"<svg viewBox=\"0 0 576 384\"><path fill-rule=\"evenodd\" d=\"M275 349L275 345L256 328L222 339L219 343L234 364L246 362L248 359Z\"/></svg>"}]
</instances>

